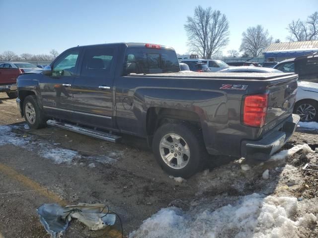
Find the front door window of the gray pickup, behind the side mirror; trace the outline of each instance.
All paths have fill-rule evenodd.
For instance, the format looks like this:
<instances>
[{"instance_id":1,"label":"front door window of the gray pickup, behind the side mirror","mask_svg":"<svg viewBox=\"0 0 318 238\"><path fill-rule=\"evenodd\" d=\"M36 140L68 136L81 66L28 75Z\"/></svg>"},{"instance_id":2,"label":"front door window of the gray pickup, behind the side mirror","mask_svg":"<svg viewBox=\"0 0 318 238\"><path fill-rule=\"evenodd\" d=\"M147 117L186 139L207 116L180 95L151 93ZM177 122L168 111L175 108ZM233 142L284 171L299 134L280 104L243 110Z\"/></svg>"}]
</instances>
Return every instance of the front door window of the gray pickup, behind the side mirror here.
<instances>
[{"instance_id":1,"label":"front door window of the gray pickup, behind the side mirror","mask_svg":"<svg viewBox=\"0 0 318 238\"><path fill-rule=\"evenodd\" d=\"M79 50L71 51L62 55L54 62L52 76L73 76L75 75L76 64L79 60Z\"/></svg>"}]
</instances>

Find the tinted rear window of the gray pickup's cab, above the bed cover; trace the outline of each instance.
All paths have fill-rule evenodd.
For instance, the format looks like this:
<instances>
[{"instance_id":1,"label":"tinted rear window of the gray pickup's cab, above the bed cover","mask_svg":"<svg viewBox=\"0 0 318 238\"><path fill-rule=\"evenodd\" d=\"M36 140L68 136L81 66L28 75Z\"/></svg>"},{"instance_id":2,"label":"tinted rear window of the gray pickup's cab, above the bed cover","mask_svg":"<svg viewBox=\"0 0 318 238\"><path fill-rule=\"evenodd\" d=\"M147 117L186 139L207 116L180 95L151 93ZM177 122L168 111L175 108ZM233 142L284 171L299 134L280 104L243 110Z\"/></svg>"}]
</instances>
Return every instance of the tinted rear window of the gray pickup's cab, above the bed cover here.
<instances>
[{"instance_id":1,"label":"tinted rear window of the gray pickup's cab, above the bed cover","mask_svg":"<svg viewBox=\"0 0 318 238\"><path fill-rule=\"evenodd\" d=\"M179 61L174 51L149 48L128 48L126 51L124 75L179 71Z\"/></svg>"}]
</instances>

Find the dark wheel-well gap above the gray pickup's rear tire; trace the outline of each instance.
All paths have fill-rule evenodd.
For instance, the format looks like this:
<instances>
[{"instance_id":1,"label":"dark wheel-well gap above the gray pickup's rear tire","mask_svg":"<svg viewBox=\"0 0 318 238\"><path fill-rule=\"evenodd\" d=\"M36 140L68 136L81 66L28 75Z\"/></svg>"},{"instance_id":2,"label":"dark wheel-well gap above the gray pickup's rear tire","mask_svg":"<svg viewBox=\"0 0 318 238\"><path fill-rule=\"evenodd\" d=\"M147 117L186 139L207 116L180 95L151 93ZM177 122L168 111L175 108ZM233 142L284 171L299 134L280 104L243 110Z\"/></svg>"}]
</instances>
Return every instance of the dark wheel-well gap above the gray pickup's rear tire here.
<instances>
[{"instance_id":1,"label":"dark wheel-well gap above the gray pickup's rear tire","mask_svg":"<svg viewBox=\"0 0 318 238\"><path fill-rule=\"evenodd\" d=\"M168 108L150 108L147 111L146 129L147 135L152 136L163 123L185 121L201 128L200 118L194 112Z\"/></svg>"}]
</instances>

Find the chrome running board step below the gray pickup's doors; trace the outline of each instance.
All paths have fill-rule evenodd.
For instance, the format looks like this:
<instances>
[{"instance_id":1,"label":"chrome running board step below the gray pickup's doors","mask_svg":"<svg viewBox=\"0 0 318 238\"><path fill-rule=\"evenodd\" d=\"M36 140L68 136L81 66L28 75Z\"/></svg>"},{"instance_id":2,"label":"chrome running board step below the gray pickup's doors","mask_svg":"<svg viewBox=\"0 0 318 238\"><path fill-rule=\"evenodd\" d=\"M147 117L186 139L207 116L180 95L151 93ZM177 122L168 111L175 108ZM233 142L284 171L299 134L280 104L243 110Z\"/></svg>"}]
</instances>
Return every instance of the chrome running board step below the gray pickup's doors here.
<instances>
[{"instance_id":1,"label":"chrome running board step below the gray pickup's doors","mask_svg":"<svg viewBox=\"0 0 318 238\"><path fill-rule=\"evenodd\" d=\"M113 135L111 133L88 129L78 125L72 125L70 123L59 122L56 120L48 120L46 123L48 125L60 127L62 129L70 130L83 135L92 136L98 139L107 140L113 143L119 142L119 140L121 139L121 136L119 135Z\"/></svg>"}]
</instances>

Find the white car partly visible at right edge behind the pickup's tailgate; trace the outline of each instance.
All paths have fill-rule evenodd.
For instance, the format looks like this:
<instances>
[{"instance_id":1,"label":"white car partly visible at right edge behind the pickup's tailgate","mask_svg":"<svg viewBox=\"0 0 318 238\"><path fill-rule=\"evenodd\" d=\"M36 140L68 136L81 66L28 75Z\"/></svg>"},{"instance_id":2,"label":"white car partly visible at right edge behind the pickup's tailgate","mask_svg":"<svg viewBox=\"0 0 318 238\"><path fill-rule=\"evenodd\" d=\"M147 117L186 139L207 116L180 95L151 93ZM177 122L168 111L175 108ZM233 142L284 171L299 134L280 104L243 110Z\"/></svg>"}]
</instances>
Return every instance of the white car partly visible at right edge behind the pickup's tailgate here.
<instances>
[{"instance_id":1,"label":"white car partly visible at right edge behind the pickup's tailgate","mask_svg":"<svg viewBox=\"0 0 318 238\"><path fill-rule=\"evenodd\" d=\"M318 83L298 81L294 113L301 121L318 120Z\"/></svg>"}]
</instances>

